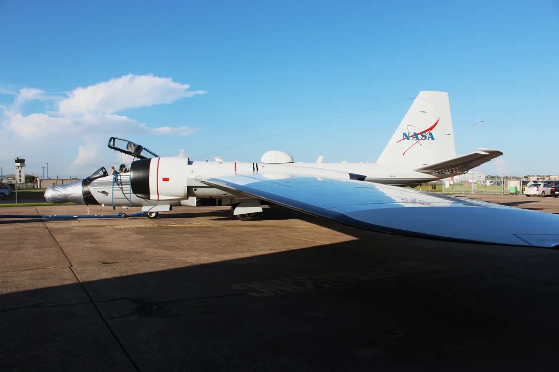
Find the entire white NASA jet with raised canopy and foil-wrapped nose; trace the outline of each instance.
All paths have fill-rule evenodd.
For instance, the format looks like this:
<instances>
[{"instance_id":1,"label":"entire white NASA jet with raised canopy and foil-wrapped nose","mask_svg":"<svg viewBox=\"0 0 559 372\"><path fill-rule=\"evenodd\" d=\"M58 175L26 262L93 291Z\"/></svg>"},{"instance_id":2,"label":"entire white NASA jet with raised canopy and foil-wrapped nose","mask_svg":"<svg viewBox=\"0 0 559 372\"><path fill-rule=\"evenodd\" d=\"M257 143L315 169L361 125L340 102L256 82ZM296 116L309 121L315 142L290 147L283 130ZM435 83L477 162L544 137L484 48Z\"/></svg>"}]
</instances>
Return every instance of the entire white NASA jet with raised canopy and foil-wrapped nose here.
<instances>
[{"instance_id":1,"label":"entire white NASA jet with raised canopy and foil-wrapped nose","mask_svg":"<svg viewBox=\"0 0 559 372\"><path fill-rule=\"evenodd\" d=\"M231 205L233 214L246 220L262 212L260 200L264 200L340 223L388 233L478 243L559 247L559 234L556 234L559 216L553 214L467 201L377 182L363 182L367 178L382 178L387 183L393 180L401 185L410 180L413 181L411 183L418 182L423 177L448 177L465 172L465 168L459 168L467 167L464 164L477 165L483 162L482 159L487 161L501 154L484 150L458 158L451 157L447 161L433 154L434 151L440 151L447 156L454 152L453 141L452 144L447 141L443 145L437 142L440 136L452 136L449 110L446 116L440 112L440 117L436 110L435 98L441 96L447 95L422 92L418 96L412 108L418 107L418 100L431 98L429 103L435 107L431 113L437 118L429 127L421 129L421 122L414 128L414 124L408 120L408 112L403 120L405 126L400 125L381 154L382 166L364 164L363 168L351 168L349 163L342 163L339 168L333 169L337 166L323 166L320 163L286 164L282 163L285 159L281 153L272 153L272 156L268 156L270 159L265 159L269 162L260 163L224 162L219 158L214 162L190 161L184 157L149 158L140 154L143 147L129 142L124 152L139 158L131 163L129 170L108 175L105 168L100 168L84 180L49 187L45 191L45 199L49 202L72 201L113 207L143 206L142 210L153 217L159 211L170 210L173 205L196 205L197 198L211 198L221 200L222 205ZM410 111L414 118L413 110ZM420 113L430 112L422 106ZM449 130L449 134L439 133L439 124ZM405 128L405 131L402 132L401 128ZM397 137L398 134L401 137ZM404 141L410 141L404 150L394 146ZM409 165L402 165L405 163L402 159L410 151L415 151L414 147L432 151L425 152L430 157L419 160L419 168L410 170ZM115 146L111 148L119 149ZM415 156L419 157L420 154ZM383 162L388 160L402 165L399 169L404 172L407 167L410 176L402 177L399 175L404 173L392 171L391 166ZM414 160L417 159L414 157ZM391 171L389 176L380 177L380 171L371 171L382 169ZM359 173L361 170L364 174ZM421 176L421 173L426 176Z\"/></svg>"}]
</instances>

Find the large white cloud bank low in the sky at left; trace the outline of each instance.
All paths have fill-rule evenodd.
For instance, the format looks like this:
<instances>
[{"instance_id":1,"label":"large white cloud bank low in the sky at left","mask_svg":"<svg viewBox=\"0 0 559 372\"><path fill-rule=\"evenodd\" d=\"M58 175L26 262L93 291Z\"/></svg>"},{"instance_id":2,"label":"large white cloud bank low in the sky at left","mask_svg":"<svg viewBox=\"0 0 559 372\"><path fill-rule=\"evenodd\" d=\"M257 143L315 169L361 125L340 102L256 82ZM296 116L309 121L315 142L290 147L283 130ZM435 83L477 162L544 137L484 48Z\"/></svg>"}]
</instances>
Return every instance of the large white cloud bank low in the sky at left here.
<instances>
[{"instance_id":1,"label":"large white cloud bank low in the sky at left","mask_svg":"<svg viewBox=\"0 0 559 372\"><path fill-rule=\"evenodd\" d=\"M60 165L60 172L87 175L92 167L106 165L103 162L122 161L115 153L106 151L106 140L110 136L126 137L134 133L177 137L198 131L198 128L186 126L150 127L116 114L125 109L169 104L206 93L188 88L190 85L170 78L132 74L76 88L65 96L36 88L17 90L0 87L0 94L4 94L4 102L0 102L0 143L3 150L0 160L8 161L12 152L21 154L22 151L37 162L43 158L58 157L58 162L64 163ZM11 103L5 102L6 95L12 96ZM48 103L46 106L54 107L54 110L23 114L23 105L34 100ZM68 157L69 152L73 156Z\"/></svg>"}]
</instances>

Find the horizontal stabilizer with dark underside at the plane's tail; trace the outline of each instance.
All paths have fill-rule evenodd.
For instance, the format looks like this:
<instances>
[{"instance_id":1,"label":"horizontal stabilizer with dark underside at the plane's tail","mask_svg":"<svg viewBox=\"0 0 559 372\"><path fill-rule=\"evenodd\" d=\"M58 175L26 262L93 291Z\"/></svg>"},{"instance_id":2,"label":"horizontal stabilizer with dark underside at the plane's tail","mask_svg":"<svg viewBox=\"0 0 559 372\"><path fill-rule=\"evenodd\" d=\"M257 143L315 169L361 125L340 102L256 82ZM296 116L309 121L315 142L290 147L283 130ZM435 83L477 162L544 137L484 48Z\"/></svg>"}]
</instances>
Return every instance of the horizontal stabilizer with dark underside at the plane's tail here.
<instances>
[{"instance_id":1,"label":"horizontal stabilizer with dark underside at the plane's tail","mask_svg":"<svg viewBox=\"0 0 559 372\"><path fill-rule=\"evenodd\" d=\"M467 171L482 165L501 156L503 153L490 149L490 148L479 148L476 152L472 152L466 155L458 156L451 160L446 160L443 162L428 164L420 168L416 168L416 172L429 173L432 175L451 175L458 173L466 173Z\"/></svg>"}]
</instances>

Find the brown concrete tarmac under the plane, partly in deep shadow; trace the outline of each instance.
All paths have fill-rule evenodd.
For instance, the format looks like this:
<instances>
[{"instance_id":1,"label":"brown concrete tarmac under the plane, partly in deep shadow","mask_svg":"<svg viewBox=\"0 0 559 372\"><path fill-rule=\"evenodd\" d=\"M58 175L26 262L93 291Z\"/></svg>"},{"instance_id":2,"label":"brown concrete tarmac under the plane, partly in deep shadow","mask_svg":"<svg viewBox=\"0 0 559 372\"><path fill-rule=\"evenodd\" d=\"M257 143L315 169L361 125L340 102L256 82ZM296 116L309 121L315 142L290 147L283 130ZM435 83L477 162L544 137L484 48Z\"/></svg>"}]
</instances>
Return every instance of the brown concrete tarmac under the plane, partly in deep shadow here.
<instances>
[{"instance_id":1,"label":"brown concrete tarmac under the plane, partly in deep shadow","mask_svg":"<svg viewBox=\"0 0 559 372\"><path fill-rule=\"evenodd\" d=\"M559 213L559 198L466 197ZM2 371L559 364L558 250L374 233L278 206L249 222L228 207L157 219L4 218L0 236Z\"/></svg>"}]
</instances>

